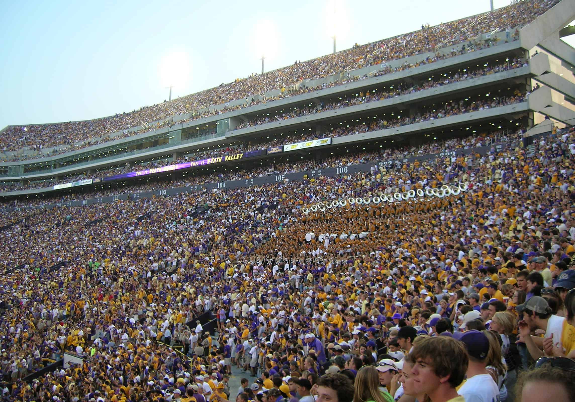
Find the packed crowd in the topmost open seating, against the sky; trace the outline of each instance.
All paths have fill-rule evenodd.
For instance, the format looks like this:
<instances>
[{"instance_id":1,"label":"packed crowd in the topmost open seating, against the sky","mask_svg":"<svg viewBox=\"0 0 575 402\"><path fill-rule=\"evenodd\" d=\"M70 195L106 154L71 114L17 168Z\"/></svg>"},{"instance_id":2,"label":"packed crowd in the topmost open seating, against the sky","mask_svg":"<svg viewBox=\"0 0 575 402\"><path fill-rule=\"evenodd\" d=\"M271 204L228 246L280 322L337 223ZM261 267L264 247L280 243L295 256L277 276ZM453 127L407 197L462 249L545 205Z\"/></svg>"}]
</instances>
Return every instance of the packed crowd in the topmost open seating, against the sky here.
<instances>
[{"instance_id":1,"label":"packed crowd in the topmost open seating, against the sky","mask_svg":"<svg viewBox=\"0 0 575 402\"><path fill-rule=\"evenodd\" d=\"M135 132L132 131L132 128L140 127L142 121L147 122L150 129L167 127L174 124L172 117L177 114L190 113L193 115L187 117L187 120L178 121L177 124L179 124L190 119L250 106L260 102L255 95L263 95L270 90L281 89L282 94L279 97L283 97L289 94L289 91L285 90L286 88L293 87L304 79L319 79L347 71L350 68L385 64L390 60L398 60L427 52L436 53L440 48L469 42L467 45L464 44L461 49L452 48L451 53L447 55L437 54L435 57L422 58L421 62L413 65L425 64L436 59L443 59L492 45L491 41L477 43L477 37L485 32L509 32L513 28L515 29L513 38L516 39L517 29L527 25L556 3L558 0L515 2L490 13L423 27L421 30L405 35L363 46L354 46L351 49L307 62L296 62L292 66L270 71L266 74L255 74L248 78L236 79L234 82L221 84L200 93L186 95L169 102L164 101L157 105L145 106L133 112L124 112L87 121L9 126L2 132L0 147L5 152L18 151L22 147L29 147L34 151L56 147L51 154L60 154L90 144L101 144L109 140L133 135ZM506 36L505 41L508 40L512 40L511 35ZM406 67L410 67L410 64L407 63L406 66L398 68L401 70ZM378 74L386 74L394 70L397 68L383 68ZM345 81L348 82L352 79L355 78L347 76ZM300 91L306 90L308 89L302 88ZM236 99L246 99L246 104L230 107L228 103ZM203 109L210 105L224 105L224 109L211 109L204 115ZM148 131L148 128L144 131ZM140 129L136 133L144 131ZM110 135L113 133L117 133L117 135L111 137ZM20 158L28 158L28 155L15 153L7 156L6 160L18 160Z\"/></svg>"}]
</instances>

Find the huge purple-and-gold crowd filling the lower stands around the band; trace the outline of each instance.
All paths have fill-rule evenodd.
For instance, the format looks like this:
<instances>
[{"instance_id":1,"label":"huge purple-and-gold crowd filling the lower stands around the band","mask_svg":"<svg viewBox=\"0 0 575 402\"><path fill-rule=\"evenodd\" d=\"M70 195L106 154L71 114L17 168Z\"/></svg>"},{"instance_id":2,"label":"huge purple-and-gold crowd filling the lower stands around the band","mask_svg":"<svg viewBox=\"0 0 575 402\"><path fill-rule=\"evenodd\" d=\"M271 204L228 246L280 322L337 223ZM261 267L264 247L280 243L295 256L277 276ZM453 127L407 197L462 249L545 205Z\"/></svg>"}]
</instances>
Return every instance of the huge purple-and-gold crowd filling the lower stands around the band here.
<instances>
[{"instance_id":1,"label":"huge purple-and-gold crowd filling the lower stands around the band","mask_svg":"<svg viewBox=\"0 0 575 402\"><path fill-rule=\"evenodd\" d=\"M14 215L2 399L573 400L575 130L534 146Z\"/></svg>"}]
</instances>

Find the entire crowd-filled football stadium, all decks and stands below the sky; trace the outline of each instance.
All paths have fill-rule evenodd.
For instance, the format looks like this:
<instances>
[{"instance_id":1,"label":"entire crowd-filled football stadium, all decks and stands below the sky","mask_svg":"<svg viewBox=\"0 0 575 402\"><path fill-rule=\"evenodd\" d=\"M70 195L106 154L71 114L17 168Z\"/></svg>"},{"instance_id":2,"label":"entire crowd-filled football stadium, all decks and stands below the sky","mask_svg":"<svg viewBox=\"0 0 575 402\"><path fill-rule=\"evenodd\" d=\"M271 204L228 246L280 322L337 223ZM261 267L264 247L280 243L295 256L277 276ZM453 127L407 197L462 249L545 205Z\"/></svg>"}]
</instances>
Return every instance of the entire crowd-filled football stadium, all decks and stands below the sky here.
<instances>
[{"instance_id":1,"label":"entire crowd-filled football stadium, all decks and stands below the sky","mask_svg":"<svg viewBox=\"0 0 575 402\"><path fill-rule=\"evenodd\" d=\"M575 400L573 20L5 127L2 400Z\"/></svg>"}]
</instances>

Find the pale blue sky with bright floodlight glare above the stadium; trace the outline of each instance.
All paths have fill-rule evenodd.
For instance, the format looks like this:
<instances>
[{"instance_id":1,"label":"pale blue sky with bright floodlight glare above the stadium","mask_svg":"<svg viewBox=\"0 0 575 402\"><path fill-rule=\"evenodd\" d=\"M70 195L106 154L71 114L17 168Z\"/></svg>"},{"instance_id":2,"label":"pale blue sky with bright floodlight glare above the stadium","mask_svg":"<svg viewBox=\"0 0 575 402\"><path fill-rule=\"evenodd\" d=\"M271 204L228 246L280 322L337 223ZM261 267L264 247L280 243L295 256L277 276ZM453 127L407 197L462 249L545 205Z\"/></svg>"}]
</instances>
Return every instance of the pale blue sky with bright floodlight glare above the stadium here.
<instances>
[{"instance_id":1,"label":"pale blue sky with bright floodlight glare above the stadium","mask_svg":"<svg viewBox=\"0 0 575 402\"><path fill-rule=\"evenodd\" d=\"M331 0L331 3L333 0ZM509 0L495 0L505 6ZM338 50L489 10L489 0L336 0ZM332 51L328 0L3 1L0 129L86 120L167 99L165 70L183 60L173 97ZM261 33L258 31L265 30ZM175 55L175 56L174 56ZM166 61L168 60L168 61Z\"/></svg>"}]
</instances>

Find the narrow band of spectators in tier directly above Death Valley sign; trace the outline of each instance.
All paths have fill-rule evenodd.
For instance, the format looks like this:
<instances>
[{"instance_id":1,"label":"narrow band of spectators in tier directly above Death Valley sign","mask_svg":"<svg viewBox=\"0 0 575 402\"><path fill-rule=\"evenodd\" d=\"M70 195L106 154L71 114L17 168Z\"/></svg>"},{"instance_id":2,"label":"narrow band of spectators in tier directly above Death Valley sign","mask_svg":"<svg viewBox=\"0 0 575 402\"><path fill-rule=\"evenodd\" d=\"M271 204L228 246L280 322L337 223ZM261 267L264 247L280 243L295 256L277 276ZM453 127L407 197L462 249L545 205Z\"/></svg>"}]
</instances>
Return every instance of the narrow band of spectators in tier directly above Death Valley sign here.
<instances>
[{"instance_id":1,"label":"narrow band of spectators in tier directly above Death Valley sign","mask_svg":"<svg viewBox=\"0 0 575 402\"><path fill-rule=\"evenodd\" d=\"M512 67L512 68L516 68L516 67ZM494 70L497 70L498 68L494 68ZM457 77L457 74L456 74ZM490 109L490 108L496 108L498 106L504 106L504 105L511 105L511 104L516 104L519 102L523 102L527 99L527 94L526 95L522 95L521 93L519 93L519 91L515 90L513 94L509 93L508 96L503 96L503 97L492 97L492 98L488 98L487 100L476 100L474 101L474 98L471 97L467 97L467 98L461 98L459 100L455 100L455 101L451 101L451 102L447 102L446 104L442 104L440 106L437 105L431 105L431 106L423 106L420 108L420 110L416 113L413 114L412 116L404 116L401 117L400 114L394 115L394 113L391 113L390 116L385 117L379 117L377 120L373 120L371 122L365 122L362 121L361 123L359 123L358 120L358 124L352 125L350 127L350 125L346 124L346 127L343 127L343 123L341 123L340 127L336 128L329 128L329 129L325 129L325 133L324 136L325 137L342 137L342 136L347 136L347 135L354 135L354 134L358 134L358 133L362 133L362 132L371 132L371 131L378 131L381 129L386 129L386 128L394 128L394 127L401 127L404 125L409 125L409 124L416 124L419 122L424 122L424 121L429 121L429 120L436 120L438 118L443 118L443 117L450 117L450 116L455 116L457 114L462 114L462 113L470 113L470 112L474 112L477 110L484 110L484 109ZM365 99L363 100L363 102L369 102L371 95L369 93L366 94L359 94L358 98L356 99ZM361 102L361 101L353 101L353 102ZM346 106L351 106L351 105L347 105ZM341 106L343 107L343 106ZM366 119L362 119L362 120L366 120ZM255 150L266 150L269 147L275 147L275 146L282 146L282 145L287 145L290 143L295 143L298 141L308 141L308 140L313 140L313 139L317 139L317 135L304 135L304 136L291 136L292 138L290 140L288 140L287 138L284 138L283 136L278 136L276 135L276 137L279 138L274 138L273 140L269 140L269 141L261 141L261 142L256 142L256 141L248 141L246 143L246 145L244 146L244 144L239 143L239 142L235 142L232 143L231 146L227 146L227 147L213 147L212 150L204 150L204 151L198 151L198 152L189 152L187 154L183 154L181 156L178 156L177 159L174 160L174 158L165 158L165 159L158 159L158 160L152 160L150 162L144 162L144 163L133 163L133 164L125 164L123 166L117 166L117 167L112 167L110 169L102 169L102 170L98 170L94 175L79 175L77 177L77 179L85 179L85 178L100 178L100 177L111 177L113 175L116 174L121 174L121 173L128 173L131 171L137 171L137 170L144 170L144 169L150 169L150 168L154 168L154 167L162 167L162 166L167 166L169 164L178 164L178 163L183 163L183 162L191 162L194 160L200 160L200 159L205 159L205 158L212 158L214 156L224 156L224 155L231 155L231 154L237 154L239 152L248 152L248 151L255 151ZM426 148L424 147L420 147L419 148L419 152L424 152ZM423 155L420 153L420 155ZM286 172L286 173L290 173L290 172ZM230 173L232 174L232 173ZM237 177L239 173L233 173L234 177ZM48 186L53 186L55 184L60 184L60 183L67 183L70 181L74 181L73 179L70 179L68 177L66 178L62 178L59 181L56 181L55 179L49 179L49 180L43 180L43 181L34 181L34 182L2 182L0 183L0 189L2 189L3 191L16 191L16 190L29 190L29 189L40 189L40 188L45 188Z\"/></svg>"}]
</instances>

